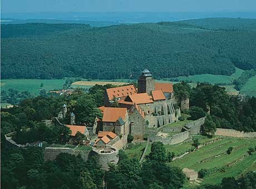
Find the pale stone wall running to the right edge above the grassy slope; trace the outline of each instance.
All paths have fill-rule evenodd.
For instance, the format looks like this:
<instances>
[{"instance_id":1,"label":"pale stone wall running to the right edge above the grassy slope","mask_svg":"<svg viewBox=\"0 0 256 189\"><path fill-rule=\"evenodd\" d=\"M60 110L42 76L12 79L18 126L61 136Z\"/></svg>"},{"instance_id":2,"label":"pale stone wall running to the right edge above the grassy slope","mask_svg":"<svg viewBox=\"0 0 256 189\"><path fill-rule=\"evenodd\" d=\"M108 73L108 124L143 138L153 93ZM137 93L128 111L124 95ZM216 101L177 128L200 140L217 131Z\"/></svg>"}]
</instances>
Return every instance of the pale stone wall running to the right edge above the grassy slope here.
<instances>
[{"instance_id":1,"label":"pale stone wall running to the right edge above the grassy slope","mask_svg":"<svg viewBox=\"0 0 256 189\"><path fill-rule=\"evenodd\" d=\"M256 138L256 132L244 132L237 130L230 130L227 128L217 128L215 135L228 136L228 137L239 137L239 138Z\"/></svg>"}]
</instances>

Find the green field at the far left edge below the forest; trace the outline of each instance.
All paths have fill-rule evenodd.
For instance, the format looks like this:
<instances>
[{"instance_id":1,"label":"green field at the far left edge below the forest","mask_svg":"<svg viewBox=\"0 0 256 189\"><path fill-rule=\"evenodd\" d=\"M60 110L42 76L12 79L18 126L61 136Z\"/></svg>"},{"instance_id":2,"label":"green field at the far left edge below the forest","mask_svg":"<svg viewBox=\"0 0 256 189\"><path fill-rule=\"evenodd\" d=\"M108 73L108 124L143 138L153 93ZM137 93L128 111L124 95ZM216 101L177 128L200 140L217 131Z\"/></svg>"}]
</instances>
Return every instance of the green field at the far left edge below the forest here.
<instances>
[{"instance_id":1,"label":"green field at the far left edge below the forest","mask_svg":"<svg viewBox=\"0 0 256 189\"><path fill-rule=\"evenodd\" d=\"M65 79L2 79L1 89L13 88L18 91L29 91L35 95L40 93L40 85L43 83L42 89L47 91L53 89L62 89Z\"/></svg>"}]
</instances>

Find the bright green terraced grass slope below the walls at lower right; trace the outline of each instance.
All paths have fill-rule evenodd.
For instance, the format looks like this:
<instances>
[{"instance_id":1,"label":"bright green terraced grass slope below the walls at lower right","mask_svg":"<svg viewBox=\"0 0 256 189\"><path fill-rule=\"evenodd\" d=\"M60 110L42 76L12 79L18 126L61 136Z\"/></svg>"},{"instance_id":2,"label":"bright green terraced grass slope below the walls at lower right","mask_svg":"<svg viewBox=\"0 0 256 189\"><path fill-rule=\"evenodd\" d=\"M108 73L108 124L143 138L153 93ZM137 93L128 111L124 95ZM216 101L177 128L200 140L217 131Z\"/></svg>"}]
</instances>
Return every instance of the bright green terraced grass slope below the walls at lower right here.
<instances>
[{"instance_id":1,"label":"bright green terraced grass slope below the walls at lower right","mask_svg":"<svg viewBox=\"0 0 256 189\"><path fill-rule=\"evenodd\" d=\"M199 141L205 140L209 139L200 138ZM248 148L255 145L256 140L223 137L222 140L209 143L179 160L168 163L168 165L187 167L196 171L205 168L210 174L205 177L203 183L220 183L223 177L238 177L242 173L255 170L256 153L250 156L247 153ZM234 150L228 155L226 152L230 146ZM190 142L166 146L168 151L174 151L177 155L188 151L190 147Z\"/></svg>"}]
</instances>

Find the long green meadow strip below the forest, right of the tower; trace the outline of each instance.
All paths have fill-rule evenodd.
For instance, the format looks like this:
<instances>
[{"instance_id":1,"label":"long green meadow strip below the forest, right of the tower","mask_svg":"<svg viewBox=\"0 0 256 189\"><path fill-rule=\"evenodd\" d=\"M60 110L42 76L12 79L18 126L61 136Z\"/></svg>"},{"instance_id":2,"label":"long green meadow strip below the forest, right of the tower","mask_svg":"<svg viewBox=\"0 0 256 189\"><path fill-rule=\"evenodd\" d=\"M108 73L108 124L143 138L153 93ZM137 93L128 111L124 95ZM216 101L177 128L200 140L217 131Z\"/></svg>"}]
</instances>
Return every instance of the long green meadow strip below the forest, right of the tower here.
<instances>
[{"instance_id":1,"label":"long green meadow strip below the forest, right of the tower","mask_svg":"<svg viewBox=\"0 0 256 189\"><path fill-rule=\"evenodd\" d=\"M176 77L179 81L192 81L193 83L197 82L208 82L211 84L216 83L232 83L233 79L238 78L243 73L243 69L235 68L235 73L231 76L223 75L213 75L213 74L199 74L189 77Z\"/></svg>"}]
</instances>

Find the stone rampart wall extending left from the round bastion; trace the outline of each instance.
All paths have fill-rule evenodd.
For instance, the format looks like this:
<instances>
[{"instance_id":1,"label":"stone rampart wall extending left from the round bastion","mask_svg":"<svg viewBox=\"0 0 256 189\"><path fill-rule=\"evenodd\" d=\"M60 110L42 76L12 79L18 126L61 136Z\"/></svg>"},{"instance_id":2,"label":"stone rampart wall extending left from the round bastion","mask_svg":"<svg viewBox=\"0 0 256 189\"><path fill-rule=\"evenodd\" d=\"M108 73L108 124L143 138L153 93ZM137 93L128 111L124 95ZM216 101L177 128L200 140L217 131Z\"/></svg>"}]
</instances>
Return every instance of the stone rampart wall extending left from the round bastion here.
<instances>
[{"instance_id":1,"label":"stone rampart wall extending left from the round bastion","mask_svg":"<svg viewBox=\"0 0 256 189\"><path fill-rule=\"evenodd\" d=\"M82 150L73 150L71 148L58 148L58 147L47 147L45 148L45 161L52 161L55 160L55 158L60 153L69 153L72 155L81 155L82 159L86 161L88 159L88 155L90 151L82 151Z\"/></svg>"}]
</instances>

